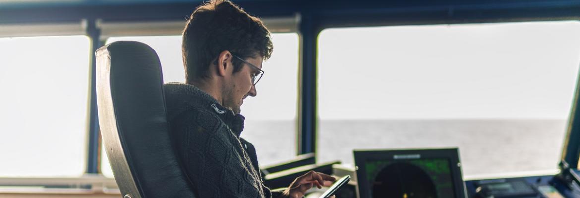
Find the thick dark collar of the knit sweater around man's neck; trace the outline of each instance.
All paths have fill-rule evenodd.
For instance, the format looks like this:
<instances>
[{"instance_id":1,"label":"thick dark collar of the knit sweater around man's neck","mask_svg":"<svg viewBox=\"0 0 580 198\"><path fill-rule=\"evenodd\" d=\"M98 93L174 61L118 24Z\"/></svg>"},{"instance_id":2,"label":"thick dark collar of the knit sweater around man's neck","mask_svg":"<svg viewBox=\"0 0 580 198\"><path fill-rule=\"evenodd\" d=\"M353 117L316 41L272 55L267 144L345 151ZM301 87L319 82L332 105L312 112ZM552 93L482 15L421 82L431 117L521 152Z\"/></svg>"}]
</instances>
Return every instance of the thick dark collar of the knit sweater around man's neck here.
<instances>
[{"instance_id":1,"label":"thick dark collar of the knit sweater around man's neck","mask_svg":"<svg viewBox=\"0 0 580 198\"><path fill-rule=\"evenodd\" d=\"M164 89L168 112L175 112L169 114L179 115L179 112L189 109L187 107L197 107L215 113L237 137L240 137L244 130L244 116L236 115L230 109L222 107L213 96L204 90L190 84L177 82L165 84Z\"/></svg>"}]
</instances>

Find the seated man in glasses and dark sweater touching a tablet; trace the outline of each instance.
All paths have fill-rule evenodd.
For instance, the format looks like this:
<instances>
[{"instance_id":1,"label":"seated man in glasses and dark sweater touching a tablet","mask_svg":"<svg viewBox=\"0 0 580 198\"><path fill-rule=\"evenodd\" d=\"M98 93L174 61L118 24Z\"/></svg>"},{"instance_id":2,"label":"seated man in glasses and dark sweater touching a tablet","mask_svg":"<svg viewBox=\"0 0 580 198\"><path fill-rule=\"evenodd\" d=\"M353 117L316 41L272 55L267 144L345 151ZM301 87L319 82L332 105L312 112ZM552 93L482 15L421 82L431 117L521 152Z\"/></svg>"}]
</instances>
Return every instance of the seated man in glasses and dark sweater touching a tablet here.
<instances>
[{"instance_id":1,"label":"seated man in glasses and dark sweater touching a tablet","mask_svg":"<svg viewBox=\"0 0 580 198\"><path fill-rule=\"evenodd\" d=\"M183 31L186 83L165 85L168 121L184 170L205 197L302 197L335 178L311 171L287 189L263 185L252 144L240 137L240 107L256 96L262 61L272 53L262 21L229 1L197 8Z\"/></svg>"}]
</instances>

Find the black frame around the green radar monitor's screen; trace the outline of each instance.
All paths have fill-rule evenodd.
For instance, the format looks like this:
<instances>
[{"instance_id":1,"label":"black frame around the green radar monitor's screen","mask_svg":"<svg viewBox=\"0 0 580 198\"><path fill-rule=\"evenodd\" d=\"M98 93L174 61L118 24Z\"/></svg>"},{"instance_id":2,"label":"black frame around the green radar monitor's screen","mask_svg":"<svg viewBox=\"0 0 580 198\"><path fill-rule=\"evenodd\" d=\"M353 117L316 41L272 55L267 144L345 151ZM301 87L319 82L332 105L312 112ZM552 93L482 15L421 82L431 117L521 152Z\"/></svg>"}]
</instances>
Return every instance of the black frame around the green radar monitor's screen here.
<instances>
[{"instance_id":1,"label":"black frame around the green radar monitor's screen","mask_svg":"<svg viewBox=\"0 0 580 198\"><path fill-rule=\"evenodd\" d=\"M357 175L357 195L358 198L370 198L368 190L361 190L368 188L366 167L362 166L368 160L397 160L396 156L419 156L418 158L409 159L448 159L451 166L451 178L453 181L453 188L455 189L455 197L467 197L465 193L465 182L462 179L461 163L459 162L458 148L433 148L433 149L396 149L396 150L355 150L354 163L356 164ZM457 166L454 166L456 164Z\"/></svg>"}]
</instances>

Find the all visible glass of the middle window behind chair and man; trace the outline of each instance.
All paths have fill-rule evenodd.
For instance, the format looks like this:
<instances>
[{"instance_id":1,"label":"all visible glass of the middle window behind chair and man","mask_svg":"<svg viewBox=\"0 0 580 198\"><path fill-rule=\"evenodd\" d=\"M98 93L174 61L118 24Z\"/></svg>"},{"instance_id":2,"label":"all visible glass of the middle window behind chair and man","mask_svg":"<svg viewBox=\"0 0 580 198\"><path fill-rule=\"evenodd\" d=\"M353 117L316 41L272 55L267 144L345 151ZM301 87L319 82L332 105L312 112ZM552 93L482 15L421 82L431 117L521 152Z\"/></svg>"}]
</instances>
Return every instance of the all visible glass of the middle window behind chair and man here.
<instances>
[{"instance_id":1,"label":"all visible glass of the middle window behind chair and man","mask_svg":"<svg viewBox=\"0 0 580 198\"><path fill-rule=\"evenodd\" d=\"M182 36L111 37L107 43L122 40L147 43L160 58L164 81L185 82ZM298 34L274 33L272 41L274 53L262 65L264 76L256 85L258 95L246 98L241 112L246 118L241 136L256 146L261 166L296 156ZM102 172L112 176L104 154Z\"/></svg>"}]
</instances>

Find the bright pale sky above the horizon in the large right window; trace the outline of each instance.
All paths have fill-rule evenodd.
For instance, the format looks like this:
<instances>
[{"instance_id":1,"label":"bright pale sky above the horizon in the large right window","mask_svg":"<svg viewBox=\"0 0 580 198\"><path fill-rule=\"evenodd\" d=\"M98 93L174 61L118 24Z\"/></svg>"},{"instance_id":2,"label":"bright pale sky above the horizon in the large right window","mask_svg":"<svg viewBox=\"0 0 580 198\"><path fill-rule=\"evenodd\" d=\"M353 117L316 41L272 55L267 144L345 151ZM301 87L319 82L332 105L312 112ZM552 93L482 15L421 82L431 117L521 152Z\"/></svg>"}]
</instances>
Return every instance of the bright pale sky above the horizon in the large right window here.
<instances>
[{"instance_id":1,"label":"bright pale sky above the horizon in the large right window","mask_svg":"<svg viewBox=\"0 0 580 198\"><path fill-rule=\"evenodd\" d=\"M567 119L580 23L321 32L321 119Z\"/></svg>"}]
</instances>

